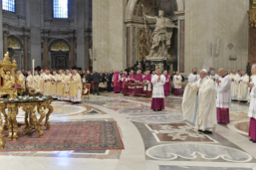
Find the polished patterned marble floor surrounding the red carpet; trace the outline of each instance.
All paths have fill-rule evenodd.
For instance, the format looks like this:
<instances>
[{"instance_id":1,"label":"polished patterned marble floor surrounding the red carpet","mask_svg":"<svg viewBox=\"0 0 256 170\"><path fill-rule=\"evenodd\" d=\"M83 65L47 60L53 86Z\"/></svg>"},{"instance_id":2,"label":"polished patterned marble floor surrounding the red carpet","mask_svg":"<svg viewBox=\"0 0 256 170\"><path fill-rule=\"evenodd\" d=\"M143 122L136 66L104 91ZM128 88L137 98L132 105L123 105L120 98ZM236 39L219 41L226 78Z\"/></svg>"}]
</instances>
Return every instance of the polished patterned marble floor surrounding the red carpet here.
<instances>
[{"instance_id":1,"label":"polished patterned marble floor surrounding the red carpet","mask_svg":"<svg viewBox=\"0 0 256 170\"><path fill-rule=\"evenodd\" d=\"M91 103L54 101L51 121L116 120L124 150L0 152L2 169L86 170L256 170L256 144L249 141L248 104L233 102L230 124L211 135L183 119L181 96L150 110L151 99L104 92ZM24 120L19 111L18 121Z\"/></svg>"}]
</instances>

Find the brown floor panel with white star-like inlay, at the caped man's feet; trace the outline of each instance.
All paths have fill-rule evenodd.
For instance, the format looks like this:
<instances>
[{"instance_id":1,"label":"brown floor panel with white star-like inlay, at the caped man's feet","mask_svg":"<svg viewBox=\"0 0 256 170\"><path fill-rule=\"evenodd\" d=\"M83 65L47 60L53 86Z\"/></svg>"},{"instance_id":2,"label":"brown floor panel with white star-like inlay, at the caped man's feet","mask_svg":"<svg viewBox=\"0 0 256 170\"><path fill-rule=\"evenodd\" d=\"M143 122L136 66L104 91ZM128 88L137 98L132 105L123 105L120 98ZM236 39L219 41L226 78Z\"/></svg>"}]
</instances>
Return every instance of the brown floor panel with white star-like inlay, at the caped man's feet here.
<instances>
[{"instance_id":1,"label":"brown floor panel with white star-like inlay, at the caped man's feet","mask_svg":"<svg viewBox=\"0 0 256 170\"><path fill-rule=\"evenodd\" d=\"M146 124L146 126L152 131L156 141L160 143L217 143L216 140L213 140L203 133L197 132L193 126L185 122Z\"/></svg>"}]
</instances>

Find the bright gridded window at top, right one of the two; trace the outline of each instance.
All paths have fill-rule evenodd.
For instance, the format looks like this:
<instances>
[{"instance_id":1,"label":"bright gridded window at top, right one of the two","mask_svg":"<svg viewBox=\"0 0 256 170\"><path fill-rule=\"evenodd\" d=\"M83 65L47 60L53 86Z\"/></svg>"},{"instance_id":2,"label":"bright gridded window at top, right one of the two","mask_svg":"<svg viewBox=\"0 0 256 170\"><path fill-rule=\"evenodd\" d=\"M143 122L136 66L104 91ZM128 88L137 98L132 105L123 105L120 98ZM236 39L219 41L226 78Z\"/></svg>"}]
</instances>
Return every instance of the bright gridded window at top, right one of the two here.
<instances>
[{"instance_id":1,"label":"bright gridded window at top, right one of the two","mask_svg":"<svg viewBox=\"0 0 256 170\"><path fill-rule=\"evenodd\" d=\"M53 0L53 18L68 18L68 0Z\"/></svg>"}]
</instances>

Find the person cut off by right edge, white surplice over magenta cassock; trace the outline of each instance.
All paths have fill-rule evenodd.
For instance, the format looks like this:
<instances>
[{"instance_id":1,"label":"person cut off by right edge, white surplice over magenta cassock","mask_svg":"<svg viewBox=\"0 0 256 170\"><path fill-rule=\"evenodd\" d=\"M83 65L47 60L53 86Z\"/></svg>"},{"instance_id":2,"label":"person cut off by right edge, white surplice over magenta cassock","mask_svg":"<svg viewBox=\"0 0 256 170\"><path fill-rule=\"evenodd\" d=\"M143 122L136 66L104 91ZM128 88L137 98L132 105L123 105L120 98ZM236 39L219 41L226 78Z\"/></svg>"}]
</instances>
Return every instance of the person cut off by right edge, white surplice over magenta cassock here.
<instances>
[{"instance_id":1,"label":"person cut off by right edge, white surplice over magenta cassock","mask_svg":"<svg viewBox=\"0 0 256 170\"><path fill-rule=\"evenodd\" d=\"M251 73L256 75L256 63L253 64L251 68ZM256 143L256 76L252 79L252 83L247 83L247 86L250 88L250 107L248 111L248 116L250 117L250 127L249 127L249 136L250 141Z\"/></svg>"}]
</instances>

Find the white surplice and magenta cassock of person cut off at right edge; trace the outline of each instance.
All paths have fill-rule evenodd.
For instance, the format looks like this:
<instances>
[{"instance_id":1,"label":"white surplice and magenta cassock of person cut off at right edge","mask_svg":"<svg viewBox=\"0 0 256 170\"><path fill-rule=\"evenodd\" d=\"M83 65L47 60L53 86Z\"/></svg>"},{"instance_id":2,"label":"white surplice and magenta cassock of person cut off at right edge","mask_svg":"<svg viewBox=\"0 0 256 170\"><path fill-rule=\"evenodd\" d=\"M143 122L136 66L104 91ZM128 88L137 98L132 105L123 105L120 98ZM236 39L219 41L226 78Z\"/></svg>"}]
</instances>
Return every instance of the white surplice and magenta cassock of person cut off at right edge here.
<instances>
[{"instance_id":1,"label":"white surplice and magenta cassock of person cut off at right edge","mask_svg":"<svg viewBox=\"0 0 256 170\"><path fill-rule=\"evenodd\" d=\"M250 91L250 107L248 116L250 117L249 136L252 140L256 141L256 76L252 80L254 87Z\"/></svg>"}]
</instances>

